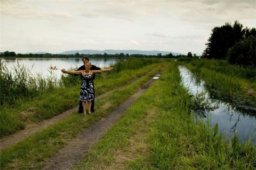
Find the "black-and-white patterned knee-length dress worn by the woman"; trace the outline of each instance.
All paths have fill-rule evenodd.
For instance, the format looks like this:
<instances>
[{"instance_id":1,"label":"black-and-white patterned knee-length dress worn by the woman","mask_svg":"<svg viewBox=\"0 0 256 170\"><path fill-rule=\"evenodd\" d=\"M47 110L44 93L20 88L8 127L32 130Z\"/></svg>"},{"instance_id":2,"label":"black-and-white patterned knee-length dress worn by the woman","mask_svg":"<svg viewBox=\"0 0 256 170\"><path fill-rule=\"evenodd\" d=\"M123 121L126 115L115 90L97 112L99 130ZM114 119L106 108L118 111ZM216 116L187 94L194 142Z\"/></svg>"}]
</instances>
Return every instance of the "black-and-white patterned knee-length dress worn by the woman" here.
<instances>
[{"instance_id":1,"label":"black-and-white patterned knee-length dress worn by the woman","mask_svg":"<svg viewBox=\"0 0 256 170\"><path fill-rule=\"evenodd\" d=\"M92 101L94 99L93 75L84 74L81 77L80 101Z\"/></svg>"}]
</instances>

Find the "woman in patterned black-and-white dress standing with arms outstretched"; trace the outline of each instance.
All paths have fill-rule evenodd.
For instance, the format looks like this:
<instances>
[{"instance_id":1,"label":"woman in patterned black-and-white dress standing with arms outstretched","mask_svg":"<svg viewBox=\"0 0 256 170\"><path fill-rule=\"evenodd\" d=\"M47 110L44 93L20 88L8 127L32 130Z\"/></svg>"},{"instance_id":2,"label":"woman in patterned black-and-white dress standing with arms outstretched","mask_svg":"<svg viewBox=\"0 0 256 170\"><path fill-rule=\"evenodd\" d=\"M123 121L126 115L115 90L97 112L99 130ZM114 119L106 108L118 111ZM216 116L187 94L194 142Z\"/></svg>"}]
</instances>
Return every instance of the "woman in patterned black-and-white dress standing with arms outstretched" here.
<instances>
[{"instance_id":1,"label":"woman in patterned black-and-white dress standing with arms outstretched","mask_svg":"<svg viewBox=\"0 0 256 170\"><path fill-rule=\"evenodd\" d=\"M80 89L80 100L83 102L84 114L86 114L86 102L88 102L88 114L91 114L91 105L92 100L94 99L93 74L110 72L111 70L113 70L113 67L100 70L90 70L92 66L90 62L84 63L84 66L85 70L67 71L65 69L62 69L61 72L68 74L81 74L82 84Z\"/></svg>"}]
</instances>

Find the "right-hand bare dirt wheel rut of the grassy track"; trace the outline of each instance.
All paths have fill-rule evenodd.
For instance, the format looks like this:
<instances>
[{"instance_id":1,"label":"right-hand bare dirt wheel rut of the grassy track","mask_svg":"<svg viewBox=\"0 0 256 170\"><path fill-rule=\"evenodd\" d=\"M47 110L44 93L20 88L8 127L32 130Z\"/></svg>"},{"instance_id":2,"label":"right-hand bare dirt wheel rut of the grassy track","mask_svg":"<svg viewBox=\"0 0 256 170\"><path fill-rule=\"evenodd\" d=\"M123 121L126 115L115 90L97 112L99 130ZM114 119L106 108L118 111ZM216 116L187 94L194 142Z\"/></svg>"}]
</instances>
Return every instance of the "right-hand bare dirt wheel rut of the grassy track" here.
<instances>
[{"instance_id":1,"label":"right-hand bare dirt wheel rut of the grassy track","mask_svg":"<svg viewBox=\"0 0 256 170\"><path fill-rule=\"evenodd\" d=\"M75 139L56 153L55 157L48 162L44 169L71 169L83 158L84 153L104 135L104 133L115 123L120 116L132 105L134 100L139 98L147 88L154 82L154 79L146 82L140 90L132 95L126 102L117 107L106 118L97 121L85 128Z\"/></svg>"}]
</instances>

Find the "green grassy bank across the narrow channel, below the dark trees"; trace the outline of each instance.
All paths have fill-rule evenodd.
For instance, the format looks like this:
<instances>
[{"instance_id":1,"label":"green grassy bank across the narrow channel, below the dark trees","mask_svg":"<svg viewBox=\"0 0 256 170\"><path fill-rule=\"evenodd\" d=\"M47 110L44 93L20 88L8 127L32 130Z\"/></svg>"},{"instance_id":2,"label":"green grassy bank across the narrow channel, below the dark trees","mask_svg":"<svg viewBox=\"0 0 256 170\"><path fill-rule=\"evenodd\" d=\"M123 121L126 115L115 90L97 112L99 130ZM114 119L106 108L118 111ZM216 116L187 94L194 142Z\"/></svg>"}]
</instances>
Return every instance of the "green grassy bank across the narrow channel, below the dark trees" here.
<instances>
[{"instance_id":1,"label":"green grassy bank across the narrow channel, below the dark trees","mask_svg":"<svg viewBox=\"0 0 256 170\"><path fill-rule=\"evenodd\" d=\"M195 77L204 80L212 98L226 101L241 112L256 115L255 68L207 59L194 59L185 65Z\"/></svg>"}]
</instances>

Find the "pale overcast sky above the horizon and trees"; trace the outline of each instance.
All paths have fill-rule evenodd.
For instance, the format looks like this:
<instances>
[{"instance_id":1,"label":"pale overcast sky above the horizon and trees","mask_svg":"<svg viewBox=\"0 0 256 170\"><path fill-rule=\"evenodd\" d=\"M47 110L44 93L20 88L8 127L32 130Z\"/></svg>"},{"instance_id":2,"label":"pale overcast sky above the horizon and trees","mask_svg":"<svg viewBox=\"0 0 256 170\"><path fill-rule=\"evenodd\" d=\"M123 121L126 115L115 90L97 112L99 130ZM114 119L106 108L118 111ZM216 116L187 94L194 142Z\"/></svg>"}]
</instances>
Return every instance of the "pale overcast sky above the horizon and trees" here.
<instances>
[{"instance_id":1,"label":"pale overcast sky above the horizon and trees","mask_svg":"<svg viewBox=\"0 0 256 170\"><path fill-rule=\"evenodd\" d=\"M1 0L0 52L164 50L200 55L214 27L256 27L256 0Z\"/></svg>"}]
</instances>

